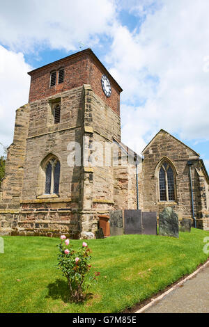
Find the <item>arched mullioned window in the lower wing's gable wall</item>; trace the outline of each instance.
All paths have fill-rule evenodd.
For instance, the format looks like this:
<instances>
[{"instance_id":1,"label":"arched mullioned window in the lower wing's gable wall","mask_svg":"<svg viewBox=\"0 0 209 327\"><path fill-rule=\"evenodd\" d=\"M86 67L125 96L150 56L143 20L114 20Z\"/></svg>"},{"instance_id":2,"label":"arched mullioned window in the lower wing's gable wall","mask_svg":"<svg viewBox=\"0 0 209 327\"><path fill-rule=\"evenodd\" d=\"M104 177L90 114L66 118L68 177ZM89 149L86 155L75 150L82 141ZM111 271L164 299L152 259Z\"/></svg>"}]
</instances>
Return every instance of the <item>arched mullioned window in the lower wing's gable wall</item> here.
<instances>
[{"instance_id":1,"label":"arched mullioned window in the lower wing's gable wall","mask_svg":"<svg viewBox=\"0 0 209 327\"><path fill-rule=\"evenodd\" d=\"M163 161L159 170L160 201L175 200L175 176L171 165Z\"/></svg>"}]
</instances>

